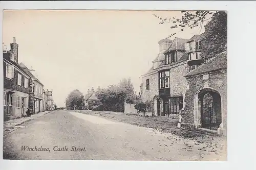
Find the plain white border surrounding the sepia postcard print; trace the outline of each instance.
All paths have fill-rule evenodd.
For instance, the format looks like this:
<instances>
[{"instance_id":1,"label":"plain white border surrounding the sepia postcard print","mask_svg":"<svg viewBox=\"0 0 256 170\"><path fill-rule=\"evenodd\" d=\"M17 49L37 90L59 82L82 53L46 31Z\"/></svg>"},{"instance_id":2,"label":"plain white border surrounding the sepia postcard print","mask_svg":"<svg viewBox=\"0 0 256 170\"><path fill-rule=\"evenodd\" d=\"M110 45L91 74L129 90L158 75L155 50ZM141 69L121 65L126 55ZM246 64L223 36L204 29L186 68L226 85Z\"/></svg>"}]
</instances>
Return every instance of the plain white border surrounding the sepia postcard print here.
<instances>
[{"instance_id":1,"label":"plain white border surrounding the sepia postcard print","mask_svg":"<svg viewBox=\"0 0 256 170\"><path fill-rule=\"evenodd\" d=\"M10 161L1 160L0 169L254 169L255 150L255 68L256 48L254 1L66 1L0 2L8 10L227 10L228 11L228 161ZM156 23L157 24L157 23ZM3 31L2 31L3 32ZM1 39L2 39L1 34ZM2 45L0 47L2 49ZM2 56L2 54L1 54ZM3 66L0 64L3 75ZM3 79L0 90L3 93ZM3 98L0 98L3 113ZM0 136L3 136L1 114ZM3 153L3 138L0 143ZM3 155L1 156L3 158ZM254 163L254 166L253 166ZM254 168L253 168L254 167Z\"/></svg>"}]
</instances>

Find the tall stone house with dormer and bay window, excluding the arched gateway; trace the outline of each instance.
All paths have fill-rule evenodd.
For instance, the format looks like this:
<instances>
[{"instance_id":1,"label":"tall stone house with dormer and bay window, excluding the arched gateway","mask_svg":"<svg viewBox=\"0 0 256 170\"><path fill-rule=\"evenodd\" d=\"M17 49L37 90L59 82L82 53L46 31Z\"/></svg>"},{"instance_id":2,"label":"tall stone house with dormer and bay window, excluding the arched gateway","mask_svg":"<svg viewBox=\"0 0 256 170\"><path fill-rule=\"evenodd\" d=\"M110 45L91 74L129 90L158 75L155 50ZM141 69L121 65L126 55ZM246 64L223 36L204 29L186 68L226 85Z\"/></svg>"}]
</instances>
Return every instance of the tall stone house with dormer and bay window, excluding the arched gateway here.
<instances>
[{"instance_id":1,"label":"tall stone house with dormer and bay window, excluding the arched gateway","mask_svg":"<svg viewBox=\"0 0 256 170\"><path fill-rule=\"evenodd\" d=\"M153 67L142 76L141 100L150 101L155 115L178 114L183 107L188 72L188 54L185 43L188 39L162 39L159 54Z\"/></svg>"}]
</instances>

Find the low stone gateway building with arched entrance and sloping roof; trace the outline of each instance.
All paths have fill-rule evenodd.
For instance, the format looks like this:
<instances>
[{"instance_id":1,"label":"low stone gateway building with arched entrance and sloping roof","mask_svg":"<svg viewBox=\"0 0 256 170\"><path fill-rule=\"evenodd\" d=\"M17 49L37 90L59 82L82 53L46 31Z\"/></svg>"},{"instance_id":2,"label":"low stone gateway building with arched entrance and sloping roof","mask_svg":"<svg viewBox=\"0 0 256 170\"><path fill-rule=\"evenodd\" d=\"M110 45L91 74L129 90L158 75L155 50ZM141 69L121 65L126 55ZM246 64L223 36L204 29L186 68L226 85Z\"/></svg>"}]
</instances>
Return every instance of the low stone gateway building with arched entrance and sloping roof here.
<instances>
[{"instance_id":1,"label":"low stone gateway building with arched entrance and sloping roof","mask_svg":"<svg viewBox=\"0 0 256 170\"><path fill-rule=\"evenodd\" d=\"M186 76L182 124L227 134L227 52Z\"/></svg>"}]
</instances>

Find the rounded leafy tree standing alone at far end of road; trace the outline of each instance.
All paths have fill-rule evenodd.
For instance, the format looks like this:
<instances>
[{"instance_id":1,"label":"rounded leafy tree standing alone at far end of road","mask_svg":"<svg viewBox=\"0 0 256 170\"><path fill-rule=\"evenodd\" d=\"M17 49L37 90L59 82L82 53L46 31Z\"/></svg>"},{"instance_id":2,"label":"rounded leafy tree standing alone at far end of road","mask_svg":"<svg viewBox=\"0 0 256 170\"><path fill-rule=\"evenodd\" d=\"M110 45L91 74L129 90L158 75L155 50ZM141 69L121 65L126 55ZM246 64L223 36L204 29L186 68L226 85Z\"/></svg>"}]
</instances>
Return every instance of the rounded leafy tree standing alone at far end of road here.
<instances>
[{"instance_id":1,"label":"rounded leafy tree standing alone at far end of road","mask_svg":"<svg viewBox=\"0 0 256 170\"><path fill-rule=\"evenodd\" d=\"M66 98L66 107L73 108L74 105L77 105L78 107L83 107L83 100L84 97L82 93L77 89L73 90Z\"/></svg>"}]
</instances>

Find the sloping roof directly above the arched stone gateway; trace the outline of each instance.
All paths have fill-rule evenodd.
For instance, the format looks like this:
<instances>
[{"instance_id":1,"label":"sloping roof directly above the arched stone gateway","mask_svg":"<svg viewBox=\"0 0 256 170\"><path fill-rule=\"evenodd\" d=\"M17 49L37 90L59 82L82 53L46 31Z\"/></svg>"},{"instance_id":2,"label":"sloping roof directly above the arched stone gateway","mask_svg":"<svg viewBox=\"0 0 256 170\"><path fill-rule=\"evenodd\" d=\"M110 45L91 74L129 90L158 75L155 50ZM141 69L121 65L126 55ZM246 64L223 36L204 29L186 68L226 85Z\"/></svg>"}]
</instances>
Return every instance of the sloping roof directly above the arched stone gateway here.
<instances>
[{"instance_id":1,"label":"sloping roof directly above the arched stone gateway","mask_svg":"<svg viewBox=\"0 0 256 170\"><path fill-rule=\"evenodd\" d=\"M216 55L215 58L201 65L195 70L189 72L185 77L196 76L196 75L205 74L208 72L226 69L226 68L227 68L227 51Z\"/></svg>"}]
</instances>

